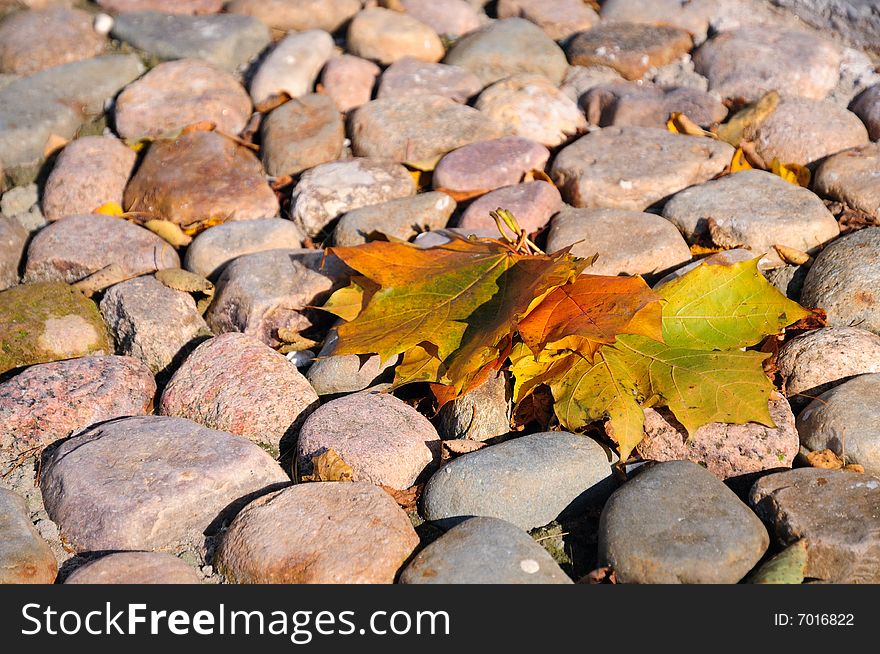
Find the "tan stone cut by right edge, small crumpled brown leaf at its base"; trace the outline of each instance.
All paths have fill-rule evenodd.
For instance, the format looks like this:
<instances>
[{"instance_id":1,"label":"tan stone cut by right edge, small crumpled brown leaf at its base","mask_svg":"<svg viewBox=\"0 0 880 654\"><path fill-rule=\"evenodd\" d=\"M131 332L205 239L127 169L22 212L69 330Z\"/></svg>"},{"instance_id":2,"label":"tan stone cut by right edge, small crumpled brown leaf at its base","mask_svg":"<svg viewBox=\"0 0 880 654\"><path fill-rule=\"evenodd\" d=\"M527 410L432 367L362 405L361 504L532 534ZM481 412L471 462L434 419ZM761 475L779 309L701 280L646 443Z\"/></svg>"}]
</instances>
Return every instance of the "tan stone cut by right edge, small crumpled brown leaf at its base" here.
<instances>
[{"instance_id":1,"label":"tan stone cut by right edge, small crumpled brown leaf at its base","mask_svg":"<svg viewBox=\"0 0 880 654\"><path fill-rule=\"evenodd\" d=\"M803 452L831 450L880 477L880 374L858 375L822 393L797 419Z\"/></svg>"}]
</instances>

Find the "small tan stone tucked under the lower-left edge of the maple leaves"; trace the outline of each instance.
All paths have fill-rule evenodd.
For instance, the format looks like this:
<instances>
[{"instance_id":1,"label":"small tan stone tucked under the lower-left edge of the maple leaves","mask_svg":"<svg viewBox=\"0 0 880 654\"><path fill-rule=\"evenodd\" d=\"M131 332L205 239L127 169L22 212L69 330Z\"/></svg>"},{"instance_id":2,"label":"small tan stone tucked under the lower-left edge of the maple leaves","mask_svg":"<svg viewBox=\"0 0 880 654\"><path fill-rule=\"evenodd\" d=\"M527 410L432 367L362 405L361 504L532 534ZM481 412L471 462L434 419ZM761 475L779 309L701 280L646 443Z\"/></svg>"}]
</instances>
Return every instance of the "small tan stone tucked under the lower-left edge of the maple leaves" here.
<instances>
[{"instance_id":1,"label":"small tan stone tucked under the lower-left edge of the maple leaves","mask_svg":"<svg viewBox=\"0 0 880 654\"><path fill-rule=\"evenodd\" d=\"M490 376L472 391L444 405L440 410L440 436L487 441L511 431L512 402L507 378Z\"/></svg>"}]
</instances>

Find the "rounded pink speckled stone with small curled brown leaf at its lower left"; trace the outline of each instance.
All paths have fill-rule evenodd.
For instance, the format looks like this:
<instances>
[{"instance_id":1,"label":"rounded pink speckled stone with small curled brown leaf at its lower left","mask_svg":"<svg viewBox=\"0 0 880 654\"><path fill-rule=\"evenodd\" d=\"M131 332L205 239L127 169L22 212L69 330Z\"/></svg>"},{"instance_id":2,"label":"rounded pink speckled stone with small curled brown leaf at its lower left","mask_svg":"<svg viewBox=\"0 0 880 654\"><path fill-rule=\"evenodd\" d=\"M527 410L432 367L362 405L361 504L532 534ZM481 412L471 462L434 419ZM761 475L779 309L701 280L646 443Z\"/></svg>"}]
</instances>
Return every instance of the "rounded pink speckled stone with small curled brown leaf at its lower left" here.
<instances>
[{"instance_id":1,"label":"rounded pink speckled stone with small curled brown leaf at its lower left","mask_svg":"<svg viewBox=\"0 0 880 654\"><path fill-rule=\"evenodd\" d=\"M297 469L311 474L312 459L335 450L355 481L406 490L439 459L440 437L418 411L393 395L356 393L331 400L305 421L297 442Z\"/></svg>"}]
</instances>

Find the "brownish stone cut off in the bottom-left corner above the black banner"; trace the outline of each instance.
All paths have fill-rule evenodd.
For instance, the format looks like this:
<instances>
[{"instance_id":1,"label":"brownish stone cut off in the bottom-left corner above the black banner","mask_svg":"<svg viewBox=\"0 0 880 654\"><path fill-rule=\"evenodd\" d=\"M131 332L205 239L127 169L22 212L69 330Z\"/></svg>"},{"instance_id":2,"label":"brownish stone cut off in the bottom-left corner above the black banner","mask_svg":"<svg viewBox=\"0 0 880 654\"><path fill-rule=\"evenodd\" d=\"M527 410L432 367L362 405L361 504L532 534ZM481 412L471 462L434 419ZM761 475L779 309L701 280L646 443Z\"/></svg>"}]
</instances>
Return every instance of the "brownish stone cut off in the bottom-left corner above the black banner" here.
<instances>
[{"instance_id":1,"label":"brownish stone cut off in the bottom-left corner above the black banner","mask_svg":"<svg viewBox=\"0 0 880 654\"><path fill-rule=\"evenodd\" d=\"M52 550L34 529L24 498L0 488L0 584L51 584Z\"/></svg>"}]
</instances>

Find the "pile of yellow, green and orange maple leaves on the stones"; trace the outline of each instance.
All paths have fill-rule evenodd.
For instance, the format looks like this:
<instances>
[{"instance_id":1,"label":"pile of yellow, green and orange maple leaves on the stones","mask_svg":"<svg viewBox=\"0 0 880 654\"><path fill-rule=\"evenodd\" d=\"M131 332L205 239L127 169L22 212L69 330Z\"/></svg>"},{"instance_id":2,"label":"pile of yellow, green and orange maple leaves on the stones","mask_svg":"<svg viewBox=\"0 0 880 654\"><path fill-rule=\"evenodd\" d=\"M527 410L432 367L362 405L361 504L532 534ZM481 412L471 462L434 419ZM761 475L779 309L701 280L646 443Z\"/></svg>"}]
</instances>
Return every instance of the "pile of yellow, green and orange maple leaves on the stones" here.
<instances>
[{"instance_id":1,"label":"pile of yellow, green and orange maple leaves on the stones","mask_svg":"<svg viewBox=\"0 0 880 654\"><path fill-rule=\"evenodd\" d=\"M641 277L582 274L591 260L545 254L508 212L493 217L498 239L332 248L360 273L323 307L345 321L334 354L401 355L394 386L429 382L441 406L508 365L516 403L546 385L564 428L609 418L621 460L643 437L646 406L668 406L690 434L773 426L768 355L745 348L809 312L757 259L703 264L652 290Z\"/></svg>"}]
</instances>

